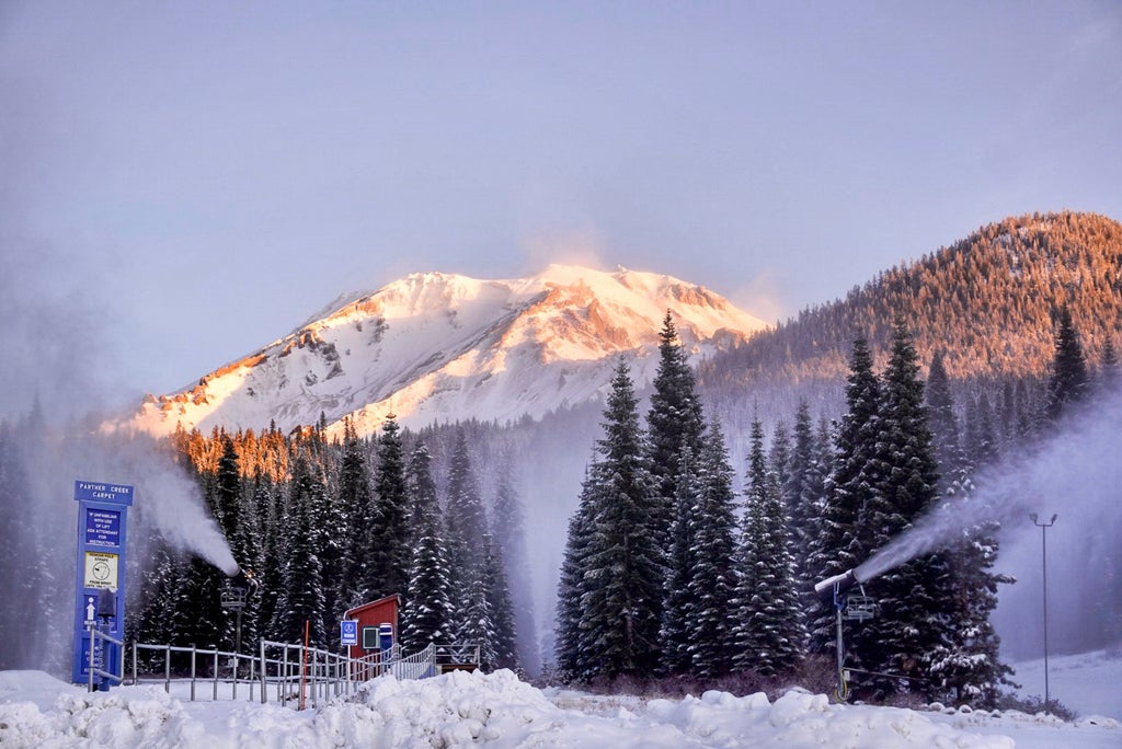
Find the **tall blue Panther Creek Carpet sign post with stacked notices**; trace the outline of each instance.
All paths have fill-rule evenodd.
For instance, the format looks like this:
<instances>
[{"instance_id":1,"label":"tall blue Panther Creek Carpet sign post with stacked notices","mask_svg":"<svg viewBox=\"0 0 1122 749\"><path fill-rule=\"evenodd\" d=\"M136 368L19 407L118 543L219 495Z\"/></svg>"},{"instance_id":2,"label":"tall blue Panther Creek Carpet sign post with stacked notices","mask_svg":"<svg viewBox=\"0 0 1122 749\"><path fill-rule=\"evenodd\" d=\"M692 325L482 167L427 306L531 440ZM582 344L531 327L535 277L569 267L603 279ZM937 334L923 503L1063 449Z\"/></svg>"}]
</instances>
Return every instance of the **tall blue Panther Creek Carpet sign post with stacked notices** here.
<instances>
[{"instance_id":1,"label":"tall blue Panther Creek Carpet sign post with stacked notices","mask_svg":"<svg viewBox=\"0 0 1122 749\"><path fill-rule=\"evenodd\" d=\"M125 635L125 529L132 487L100 481L75 481L77 508L77 563L74 605L75 684L90 679L90 627L121 640ZM94 668L112 672L117 683L118 658L113 648L94 647ZM109 688L109 679L94 675L94 683Z\"/></svg>"}]
</instances>

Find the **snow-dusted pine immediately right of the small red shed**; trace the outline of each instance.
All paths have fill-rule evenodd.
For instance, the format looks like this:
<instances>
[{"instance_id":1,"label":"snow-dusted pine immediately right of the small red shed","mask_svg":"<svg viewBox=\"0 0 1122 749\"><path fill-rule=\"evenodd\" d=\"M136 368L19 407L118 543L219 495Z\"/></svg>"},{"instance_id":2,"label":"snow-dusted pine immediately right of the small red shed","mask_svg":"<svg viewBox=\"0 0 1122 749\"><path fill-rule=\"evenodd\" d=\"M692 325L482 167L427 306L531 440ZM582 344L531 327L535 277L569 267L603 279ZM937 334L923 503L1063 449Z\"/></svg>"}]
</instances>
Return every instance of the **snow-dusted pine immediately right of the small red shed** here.
<instances>
[{"instance_id":1,"label":"snow-dusted pine immediately right of the small red shed","mask_svg":"<svg viewBox=\"0 0 1122 749\"><path fill-rule=\"evenodd\" d=\"M410 508L413 553L402 607L402 647L415 653L430 642L451 642L452 590L432 457L424 444L419 444L410 455L406 478L413 500Z\"/></svg>"}]
</instances>

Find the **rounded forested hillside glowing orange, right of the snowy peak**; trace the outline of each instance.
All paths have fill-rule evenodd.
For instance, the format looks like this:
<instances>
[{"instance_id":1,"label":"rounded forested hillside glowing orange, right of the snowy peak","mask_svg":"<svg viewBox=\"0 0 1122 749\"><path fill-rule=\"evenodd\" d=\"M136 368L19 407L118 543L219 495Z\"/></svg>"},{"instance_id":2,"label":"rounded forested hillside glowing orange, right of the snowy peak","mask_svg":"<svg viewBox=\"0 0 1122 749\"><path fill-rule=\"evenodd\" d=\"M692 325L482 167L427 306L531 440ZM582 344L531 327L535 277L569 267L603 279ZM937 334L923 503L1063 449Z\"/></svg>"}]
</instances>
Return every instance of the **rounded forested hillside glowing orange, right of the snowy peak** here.
<instances>
[{"instance_id":1,"label":"rounded forested hillside glowing orange, right of the snowy peak","mask_svg":"<svg viewBox=\"0 0 1122 749\"><path fill-rule=\"evenodd\" d=\"M953 381L987 385L996 400L1005 383L1031 389L1046 378L1063 306L1096 369L1107 341L1116 350L1122 336L1122 224L1063 212L983 226L714 357L699 381L720 410L735 410L748 391L765 420L793 413L803 397L833 416L854 339L865 336L881 366L900 318L925 371L941 349ZM977 395L975 387L959 394L967 391Z\"/></svg>"}]
</instances>

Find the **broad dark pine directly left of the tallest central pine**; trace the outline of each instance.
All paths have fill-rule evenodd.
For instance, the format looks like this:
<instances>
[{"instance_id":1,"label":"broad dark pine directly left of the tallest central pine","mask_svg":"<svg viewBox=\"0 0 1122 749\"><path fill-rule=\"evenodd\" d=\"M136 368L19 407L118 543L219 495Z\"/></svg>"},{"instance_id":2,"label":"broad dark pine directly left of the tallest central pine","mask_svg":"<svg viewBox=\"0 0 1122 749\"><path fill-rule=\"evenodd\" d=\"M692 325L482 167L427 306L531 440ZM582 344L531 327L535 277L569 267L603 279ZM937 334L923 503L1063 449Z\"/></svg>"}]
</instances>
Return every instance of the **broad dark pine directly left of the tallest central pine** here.
<instances>
[{"instance_id":1,"label":"broad dark pine directly left of the tallest central pine","mask_svg":"<svg viewBox=\"0 0 1122 749\"><path fill-rule=\"evenodd\" d=\"M585 556L582 639L591 675L651 674L659 662L665 568L656 508L644 460L638 401L626 362L616 367L604 410L594 493L599 506Z\"/></svg>"}]
</instances>

